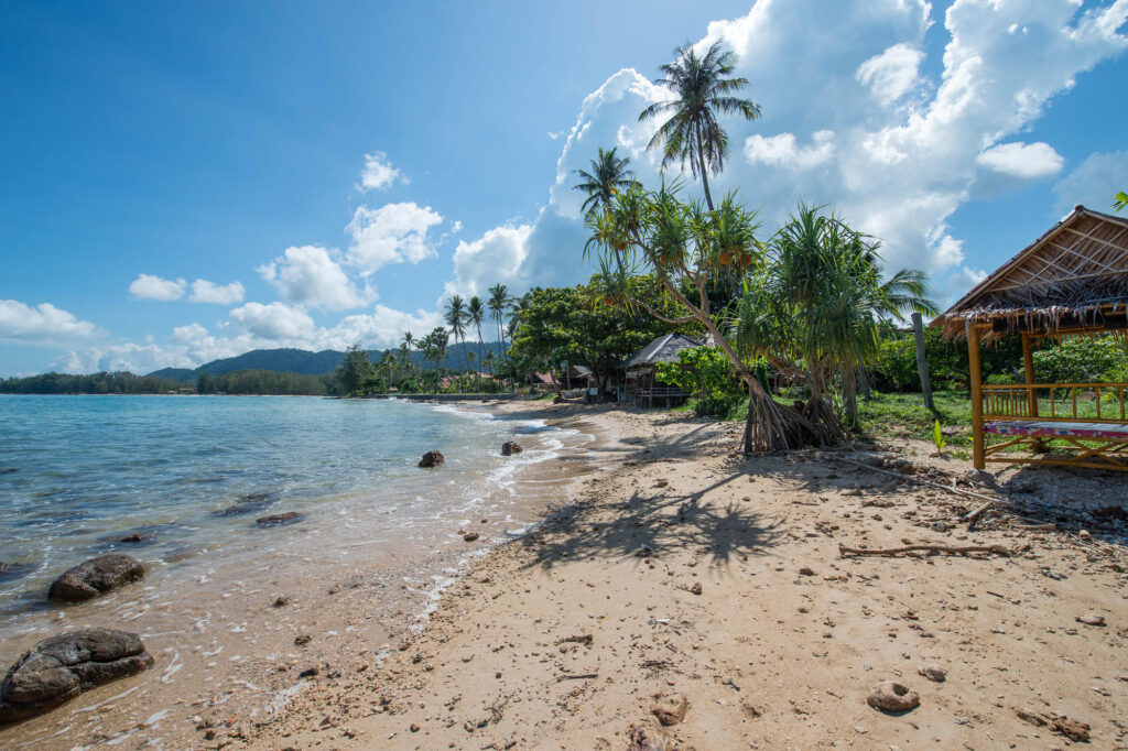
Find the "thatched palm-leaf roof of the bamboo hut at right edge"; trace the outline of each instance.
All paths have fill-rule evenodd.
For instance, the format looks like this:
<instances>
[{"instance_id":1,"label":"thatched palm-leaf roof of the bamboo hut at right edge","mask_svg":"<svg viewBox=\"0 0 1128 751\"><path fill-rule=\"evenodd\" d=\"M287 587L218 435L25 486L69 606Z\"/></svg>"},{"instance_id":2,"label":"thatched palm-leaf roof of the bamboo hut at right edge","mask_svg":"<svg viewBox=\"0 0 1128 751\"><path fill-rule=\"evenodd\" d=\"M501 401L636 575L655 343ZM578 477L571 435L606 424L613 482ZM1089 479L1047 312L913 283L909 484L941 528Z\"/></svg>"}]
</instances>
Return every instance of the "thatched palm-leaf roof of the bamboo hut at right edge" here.
<instances>
[{"instance_id":1,"label":"thatched palm-leaf roof of the bamboo hut at right edge","mask_svg":"<svg viewBox=\"0 0 1128 751\"><path fill-rule=\"evenodd\" d=\"M932 326L963 336L968 320L1049 334L1123 328L1128 309L1128 218L1077 206L979 282Z\"/></svg>"}]
</instances>

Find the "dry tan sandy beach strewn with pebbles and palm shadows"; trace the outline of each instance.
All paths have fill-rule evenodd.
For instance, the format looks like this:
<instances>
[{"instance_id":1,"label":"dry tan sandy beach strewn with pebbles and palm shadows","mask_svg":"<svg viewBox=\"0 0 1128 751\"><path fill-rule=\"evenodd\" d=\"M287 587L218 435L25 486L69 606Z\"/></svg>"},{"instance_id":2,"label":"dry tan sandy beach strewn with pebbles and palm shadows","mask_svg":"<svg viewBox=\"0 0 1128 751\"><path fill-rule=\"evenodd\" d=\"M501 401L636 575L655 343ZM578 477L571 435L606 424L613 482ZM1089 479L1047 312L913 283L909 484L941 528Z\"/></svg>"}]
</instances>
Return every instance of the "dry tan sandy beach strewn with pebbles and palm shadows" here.
<instances>
[{"instance_id":1,"label":"dry tan sandy beach strewn with pebbles and palm shadows","mask_svg":"<svg viewBox=\"0 0 1128 751\"><path fill-rule=\"evenodd\" d=\"M337 655L265 724L205 709L201 746L618 750L656 724L658 692L688 699L667 732L698 751L1128 743L1123 476L1007 470L996 492L906 441L910 461L742 460L734 424L503 408L596 426L608 471L479 559L386 661ZM1004 504L969 530L976 500L909 474ZM839 554L910 544L1008 555ZM919 707L869 707L883 680Z\"/></svg>"}]
</instances>

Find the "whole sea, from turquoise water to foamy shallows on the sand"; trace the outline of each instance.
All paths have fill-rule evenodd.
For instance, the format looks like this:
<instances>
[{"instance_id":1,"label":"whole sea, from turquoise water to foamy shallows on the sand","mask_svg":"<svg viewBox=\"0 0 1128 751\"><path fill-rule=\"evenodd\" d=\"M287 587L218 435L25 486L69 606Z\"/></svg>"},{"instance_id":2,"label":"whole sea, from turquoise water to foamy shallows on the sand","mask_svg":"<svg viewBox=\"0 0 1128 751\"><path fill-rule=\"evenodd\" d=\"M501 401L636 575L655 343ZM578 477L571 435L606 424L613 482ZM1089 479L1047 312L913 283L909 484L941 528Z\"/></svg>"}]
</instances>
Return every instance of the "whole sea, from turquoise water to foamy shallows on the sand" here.
<instances>
[{"instance_id":1,"label":"whole sea, from turquoise water to foamy shallows on the sand","mask_svg":"<svg viewBox=\"0 0 1128 751\"><path fill-rule=\"evenodd\" d=\"M510 440L523 451L503 457ZM190 722L174 706L277 710L293 686L264 679L277 664L379 660L474 557L565 500L564 481L592 471L591 441L396 399L0 395L0 671L85 626L139 633L157 657L121 727L104 708L81 714L80 698L25 723L18 744L68 723L76 737L168 743ZM417 467L432 449L444 463ZM63 571L107 553L139 558L146 578L86 603L46 599Z\"/></svg>"}]
</instances>

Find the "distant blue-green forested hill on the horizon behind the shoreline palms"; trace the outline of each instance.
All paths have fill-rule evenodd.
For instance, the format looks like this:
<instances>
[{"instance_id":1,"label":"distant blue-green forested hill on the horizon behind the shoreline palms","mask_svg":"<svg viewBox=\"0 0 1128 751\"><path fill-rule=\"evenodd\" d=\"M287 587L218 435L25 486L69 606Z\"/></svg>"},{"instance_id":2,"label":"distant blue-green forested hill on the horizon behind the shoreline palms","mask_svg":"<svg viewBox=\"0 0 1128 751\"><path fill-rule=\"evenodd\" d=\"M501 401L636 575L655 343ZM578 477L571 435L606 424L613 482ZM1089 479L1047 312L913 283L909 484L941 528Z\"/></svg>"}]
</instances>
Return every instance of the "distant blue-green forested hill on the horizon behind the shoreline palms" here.
<instances>
[{"instance_id":1,"label":"distant blue-green forested hill on the horizon behind the shoreline palms","mask_svg":"<svg viewBox=\"0 0 1128 751\"><path fill-rule=\"evenodd\" d=\"M443 366L461 368L465 351L470 351L475 354L475 356L477 356L477 342L465 342L457 346L451 344L447 348L447 359L446 362L443 362ZM501 345L497 342L486 342L482 345L482 351L484 353L492 351L495 354L499 354L501 352ZM376 362L384 356L385 352L386 350L369 350L369 360ZM394 350L394 352L397 355L399 354L398 350ZM162 368L160 370L155 370L149 373L149 376L167 378L182 383L195 383L201 373L222 376L237 370L272 370L280 373L289 372L299 373L301 376L320 376L323 373L332 373L336 370L337 365L341 364L341 361L344 360L344 352L336 352L334 350L324 350L321 352L309 352L308 350L293 348L252 350L250 352L245 352L244 354L235 357L223 357L222 360L205 362L195 369ZM412 364L416 368L430 368L430 363L423 362L423 354L420 352L412 352ZM481 370L478 363L475 363L475 365Z\"/></svg>"}]
</instances>

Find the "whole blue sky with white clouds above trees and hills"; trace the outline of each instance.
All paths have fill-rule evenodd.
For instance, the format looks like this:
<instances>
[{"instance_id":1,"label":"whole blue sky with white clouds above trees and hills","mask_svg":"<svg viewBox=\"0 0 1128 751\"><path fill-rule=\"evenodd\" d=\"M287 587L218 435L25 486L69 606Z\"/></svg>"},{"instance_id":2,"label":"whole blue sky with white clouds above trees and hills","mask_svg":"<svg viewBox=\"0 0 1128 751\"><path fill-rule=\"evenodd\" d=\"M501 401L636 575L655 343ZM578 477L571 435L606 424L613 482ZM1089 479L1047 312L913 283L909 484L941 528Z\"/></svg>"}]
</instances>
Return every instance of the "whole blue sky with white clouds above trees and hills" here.
<instances>
[{"instance_id":1,"label":"whole blue sky with white clouds above trees and hills","mask_svg":"<svg viewBox=\"0 0 1128 751\"><path fill-rule=\"evenodd\" d=\"M1128 188L1128 0L704 5L0 5L0 374L386 346L582 281L572 170L658 179L635 121L685 42L764 111L719 187L834 204L941 302Z\"/></svg>"}]
</instances>

